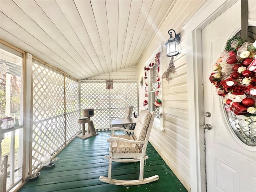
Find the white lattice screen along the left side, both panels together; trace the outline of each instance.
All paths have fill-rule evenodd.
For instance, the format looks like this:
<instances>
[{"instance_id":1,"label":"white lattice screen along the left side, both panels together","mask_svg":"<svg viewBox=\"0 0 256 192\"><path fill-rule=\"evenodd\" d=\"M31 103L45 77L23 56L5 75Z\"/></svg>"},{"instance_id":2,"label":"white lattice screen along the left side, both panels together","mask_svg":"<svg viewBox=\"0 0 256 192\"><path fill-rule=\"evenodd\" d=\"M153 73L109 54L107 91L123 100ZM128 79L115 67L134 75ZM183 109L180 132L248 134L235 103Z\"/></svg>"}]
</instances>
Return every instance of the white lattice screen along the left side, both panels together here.
<instances>
[{"instance_id":1,"label":"white lattice screen along the left side, both panels together","mask_svg":"<svg viewBox=\"0 0 256 192\"><path fill-rule=\"evenodd\" d=\"M32 171L79 132L78 82L36 60L32 66ZM65 94L66 92L66 94ZM66 98L66 105L65 105Z\"/></svg>"}]
</instances>

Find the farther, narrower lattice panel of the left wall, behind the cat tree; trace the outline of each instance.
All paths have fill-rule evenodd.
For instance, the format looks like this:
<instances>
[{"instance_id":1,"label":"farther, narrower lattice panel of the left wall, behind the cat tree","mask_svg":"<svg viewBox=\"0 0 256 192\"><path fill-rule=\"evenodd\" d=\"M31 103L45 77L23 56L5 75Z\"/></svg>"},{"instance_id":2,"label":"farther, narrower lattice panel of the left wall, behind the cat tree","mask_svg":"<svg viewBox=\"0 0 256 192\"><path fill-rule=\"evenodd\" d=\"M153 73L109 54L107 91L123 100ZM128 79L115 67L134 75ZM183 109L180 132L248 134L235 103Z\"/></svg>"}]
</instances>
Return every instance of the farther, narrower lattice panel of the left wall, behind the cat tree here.
<instances>
[{"instance_id":1,"label":"farther, narrower lattice panel of the left wall, behind the cat tree","mask_svg":"<svg viewBox=\"0 0 256 192\"><path fill-rule=\"evenodd\" d=\"M77 120L80 118L78 81L65 76L66 98L66 140L70 141L80 132Z\"/></svg>"}]
</instances>

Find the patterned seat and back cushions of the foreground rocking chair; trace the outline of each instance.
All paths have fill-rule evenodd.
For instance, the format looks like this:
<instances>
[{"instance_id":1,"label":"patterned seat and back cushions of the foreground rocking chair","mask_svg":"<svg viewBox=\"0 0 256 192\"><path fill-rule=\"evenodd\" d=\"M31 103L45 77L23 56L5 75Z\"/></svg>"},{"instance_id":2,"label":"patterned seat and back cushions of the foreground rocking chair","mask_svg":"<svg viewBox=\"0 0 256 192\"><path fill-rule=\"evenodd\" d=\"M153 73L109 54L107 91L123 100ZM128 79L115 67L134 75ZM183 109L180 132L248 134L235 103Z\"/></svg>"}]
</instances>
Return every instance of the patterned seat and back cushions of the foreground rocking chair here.
<instances>
[{"instance_id":1,"label":"patterned seat and back cushions of the foreground rocking chair","mask_svg":"<svg viewBox=\"0 0 256 192\"><path fill-rule=\"evenodd\" d=\"M138 116L138 121L134 128L134 135L114 135L112 137L119 137L128 140L145 140L148 125L151 119L151 114L146 111L140 111ZM113 153L141 153L142 152L142 144L130 144L122 141L115 141L112 144L112 152Z\"/></svg>"}]
</instances>

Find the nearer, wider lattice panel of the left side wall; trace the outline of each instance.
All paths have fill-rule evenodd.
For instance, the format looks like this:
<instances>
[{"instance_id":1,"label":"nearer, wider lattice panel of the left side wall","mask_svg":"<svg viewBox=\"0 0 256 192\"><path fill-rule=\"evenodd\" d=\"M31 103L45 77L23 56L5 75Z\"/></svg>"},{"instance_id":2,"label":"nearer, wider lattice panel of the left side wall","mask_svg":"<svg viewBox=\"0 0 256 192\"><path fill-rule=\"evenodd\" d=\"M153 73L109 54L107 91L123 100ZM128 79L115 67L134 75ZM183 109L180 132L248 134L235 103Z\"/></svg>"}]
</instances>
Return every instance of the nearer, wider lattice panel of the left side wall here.
<instances>
[{"instance_id":1,"label":"nearer, wider lattice panel of the left side wall","mask_svg":"<svg viewBox=\"0 0 256 192\"><path fill-rule=\"evenodd\" d=\"M65 144L64 74L33 60L32 170Z\"/></svg>"}]
</instances>

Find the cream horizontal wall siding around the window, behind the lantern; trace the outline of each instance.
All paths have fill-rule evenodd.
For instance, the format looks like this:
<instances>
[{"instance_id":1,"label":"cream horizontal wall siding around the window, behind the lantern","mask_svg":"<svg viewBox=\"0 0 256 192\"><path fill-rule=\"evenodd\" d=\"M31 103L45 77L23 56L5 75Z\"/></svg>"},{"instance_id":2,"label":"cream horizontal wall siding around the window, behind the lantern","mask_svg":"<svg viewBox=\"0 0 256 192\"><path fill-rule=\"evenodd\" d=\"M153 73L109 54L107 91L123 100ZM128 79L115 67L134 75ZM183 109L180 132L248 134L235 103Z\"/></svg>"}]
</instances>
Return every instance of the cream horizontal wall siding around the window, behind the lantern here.
<instances>
[{"instance_id":1,"label":"cream horizontal wall siding around the window, behind the lantern","mask_svg":"<svg viewBox=\"0 0 256 192\"><path fill-rule=\"evenodd\" d=\"M192 13L204 1L174 1L172 10L177 10L179 18L174 17L175 13L170 12L164 22L157 29L154 38L145 50L138 63L138 85L140 86L141 76L144 76L144 66L154 58L159 46L162 45L160 60L160 74L168 68L170 58L166 57L165 42L170 38L168 30L174 29L181 34L179 45L180 52L174 57L175 74L171 74L169 83L166 79L161 79L162 87L162 112L163 128L154 126L150 135L150 142L156 148L158 153L166 161L174 174L182 182L188 191L190 191L190 158L189 158L189 135L188 135L188 87L187 87L187 66L186 66L186 37L182 28L183 22L188 20ZM178 12L180 14L178 14ZM181 19L183 18L183 20ZM142 102L145 99L144 87L138 88L139 93L139 111L145 107ZM147 106L146 106L147 108ZM193 114L190 114L193 115ZM160 126L160 125L158 125Z\"/></svg>"}]
</instances>

